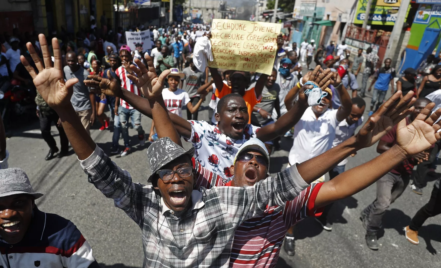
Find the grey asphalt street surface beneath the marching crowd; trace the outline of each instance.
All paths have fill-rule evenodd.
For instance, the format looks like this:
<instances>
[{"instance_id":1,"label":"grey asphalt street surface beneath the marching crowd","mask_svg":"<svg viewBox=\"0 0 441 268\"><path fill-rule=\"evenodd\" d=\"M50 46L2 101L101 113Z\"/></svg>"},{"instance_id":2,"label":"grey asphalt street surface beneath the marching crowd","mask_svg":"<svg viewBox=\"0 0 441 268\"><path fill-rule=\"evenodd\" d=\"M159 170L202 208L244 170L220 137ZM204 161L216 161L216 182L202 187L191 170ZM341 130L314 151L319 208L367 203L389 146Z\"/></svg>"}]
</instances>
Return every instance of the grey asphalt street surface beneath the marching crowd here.
<instances>
[{"instance_id":1,"label":"grey asphalt street surface beneath the marching crowd","mask_svg":"<svg viewBox=\"0 0 441 268\"><path fill-rule=\"evenodd\" d=\"M365 99L370 102L369 97ZM200 120L208 120L208 102L209 97L199 113ZM183 114L185 117L187 113ZM366 117L367 110L365 120ZM143 116L143 128L149 130L150 124L151 120ZM108 153L112 127L105 131L99 131L98 127L98 123L94 125L91 136ZM52 133L60 144L55 126L52 126ZM129 133L132 137L132 153L124 158L112 156L112 160L122 169L128 170L133 181L146 183L150 175L146 157L148 143L139 147L135 130L130 129ZM123 144L122 140L120 144ZM184 143L186 147L189 145ZM291 146L292 139L282 138L283 149L272 155L271 174L276 174L286 166ZM38 208L59 214L75 223L92 246L101 267L142 267L141 230L123 211L114 207L112 200L105 198L87 181L73 150L70 149L71 155L62 159L45 161L49 148L41 138L38 121L14 129L11 138L7 140L7 149L10 152L9 166L24 169L34 189L45 194L36 200ZM376 145L363 149L349 159L347 169L377 155ZM440 168L437 171L441 173ZM287 256L282 249L278 267L441 267L440 215L428 219L421 228L418 246L407 242L403 231L416 211L429 200L434 178L428 177L428 180L422 196L412 193L407 187L385 213L384 234L380 235L381 246L378 251L366 247L365 230L359 220L360 211L375 199L376 188L372 185L355 196L336 202L330 212L329 220L333 223L331 232L323 230L312 218L298 223L295 231L295 256Z\"/></svg>"}]
</instances>

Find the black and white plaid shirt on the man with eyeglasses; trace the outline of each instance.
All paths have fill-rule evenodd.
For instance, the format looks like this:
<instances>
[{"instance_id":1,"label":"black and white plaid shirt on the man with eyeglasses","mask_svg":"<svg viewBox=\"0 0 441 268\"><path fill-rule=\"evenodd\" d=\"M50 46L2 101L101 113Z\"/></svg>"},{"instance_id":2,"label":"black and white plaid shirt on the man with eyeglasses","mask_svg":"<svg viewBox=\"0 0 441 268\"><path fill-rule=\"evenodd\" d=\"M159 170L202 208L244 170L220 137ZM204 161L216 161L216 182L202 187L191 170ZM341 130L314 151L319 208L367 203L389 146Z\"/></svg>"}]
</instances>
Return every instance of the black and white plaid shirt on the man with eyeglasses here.
<instances>
[{"instance_id":1,"label":"black and white plaid shirt on the man with eyeglasses","mask_svg":"<svg viewBox=\"0 0 441 268\"><path fill-rule=\"evenodd\" d=\"M143 267L228 267L239 225L262 215L267 206L281 211L308 186L294 165L254 186L200 188L191 194L191 209L179 218L152 186L134 183L98 146L81 166L89 182L141 228Z\"/></svg>"}]
</instances>

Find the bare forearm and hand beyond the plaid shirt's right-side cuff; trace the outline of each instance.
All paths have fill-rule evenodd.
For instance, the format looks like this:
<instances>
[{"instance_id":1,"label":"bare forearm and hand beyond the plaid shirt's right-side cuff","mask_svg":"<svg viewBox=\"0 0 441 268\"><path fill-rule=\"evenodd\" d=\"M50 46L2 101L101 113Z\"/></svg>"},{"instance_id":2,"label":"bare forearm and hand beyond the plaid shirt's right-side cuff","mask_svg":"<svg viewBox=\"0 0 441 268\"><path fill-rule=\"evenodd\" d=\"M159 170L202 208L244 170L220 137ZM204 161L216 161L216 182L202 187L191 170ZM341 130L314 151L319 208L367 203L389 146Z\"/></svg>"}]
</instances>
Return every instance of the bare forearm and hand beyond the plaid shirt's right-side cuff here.
<instances>
[{"instance_id":1,"label":"bare forearm and hand beyond the plaid shirt's right-side cuff","mask_svg":"<svg viewBox=\"0 0 441 268\"><path fill-rule=\"evenodd\" d=\"M393 94L380 106L377 112L369 117L355 136L321 155L297 164L297 169L303 179L307 183L315 181L349 155L362 148L374 145L382 136L386 135L394 125L398 124L415 109L411 107L416 100L412 98L413 92L407 93L403 98L400 98L400 96L401 91Z\"/></svg>"}]
</instances>

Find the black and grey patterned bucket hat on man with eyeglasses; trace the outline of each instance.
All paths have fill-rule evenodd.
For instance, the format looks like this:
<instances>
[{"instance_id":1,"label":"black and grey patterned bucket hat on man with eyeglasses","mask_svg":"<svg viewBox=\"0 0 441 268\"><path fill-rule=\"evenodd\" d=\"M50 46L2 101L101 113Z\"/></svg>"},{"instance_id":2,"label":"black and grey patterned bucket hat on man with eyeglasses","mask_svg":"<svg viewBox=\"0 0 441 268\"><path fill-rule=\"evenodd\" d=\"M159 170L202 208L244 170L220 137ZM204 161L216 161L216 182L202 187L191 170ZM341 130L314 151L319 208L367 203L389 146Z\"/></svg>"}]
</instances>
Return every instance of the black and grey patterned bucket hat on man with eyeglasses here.
<instances>
[{"instance_id":1,"label":"black and grey patterned bucket hat on man with eyeglasses","mask_svg":"<svg viewBox=\"0 0 441 268\"><path fill-rule=\"evenodd\" d=\"M152 174L147 179L147 182L152 182L153 176L161 167L172 162L181 155L194 156L194 147L185 151L178 144L174 143L169 137L163 137L153 142L147 149L147 157L149 158L149 165Z\"/></svg>"}]
</instances>

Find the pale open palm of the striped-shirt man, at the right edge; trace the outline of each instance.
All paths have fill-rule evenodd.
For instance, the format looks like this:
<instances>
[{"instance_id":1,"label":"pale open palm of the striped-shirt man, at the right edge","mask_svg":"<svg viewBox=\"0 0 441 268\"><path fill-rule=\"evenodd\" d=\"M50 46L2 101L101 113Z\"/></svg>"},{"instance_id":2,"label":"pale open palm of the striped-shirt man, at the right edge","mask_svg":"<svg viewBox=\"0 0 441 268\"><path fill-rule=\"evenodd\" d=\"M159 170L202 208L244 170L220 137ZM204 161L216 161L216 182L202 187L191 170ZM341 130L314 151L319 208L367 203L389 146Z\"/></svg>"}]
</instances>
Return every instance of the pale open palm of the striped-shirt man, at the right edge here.
<instances>
[{"instance_id":1,"label":"pale open palm of the striped-shirt man, at the right edge","mask_svg":"<svg viewBox=\"0 0 441 268\"><path fill-rule=\"evenodd\" d=\"M440 133L437 132L441 128L441 121L435 124L441 116L441 108L427 118L434 106L435 103L429 103L409 125L406 125L405 120L398 123L396 143L406 151L407 155L416 155L425 151L441 139Z\"/></svg>"}]
</instances>

